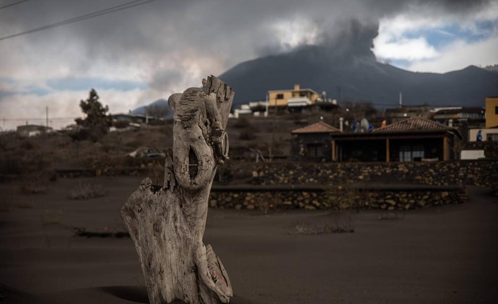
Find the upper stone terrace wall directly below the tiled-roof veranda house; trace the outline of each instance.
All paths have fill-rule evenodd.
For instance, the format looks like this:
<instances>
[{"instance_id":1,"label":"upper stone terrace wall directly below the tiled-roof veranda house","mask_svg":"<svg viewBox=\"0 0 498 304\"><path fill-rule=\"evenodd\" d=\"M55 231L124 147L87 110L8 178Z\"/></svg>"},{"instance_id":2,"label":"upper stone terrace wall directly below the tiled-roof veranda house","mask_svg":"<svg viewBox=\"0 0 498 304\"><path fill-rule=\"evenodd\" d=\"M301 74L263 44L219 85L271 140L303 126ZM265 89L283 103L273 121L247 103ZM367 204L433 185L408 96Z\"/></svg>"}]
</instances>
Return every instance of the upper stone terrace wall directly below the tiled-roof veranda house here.
<instances>
[{"instance_id":1,"label":"upper stone terrace wall directly below the tiled-roof veranda house","mask_svg":"<svg viewBox=\"0 0 498 304\"><path fill-rule=\"evenodd\" d=\"M257 185L342 185L347 182L476 185L498 181L498 160L436 162L287 162L258 163L253 167Z\"/></svg>"}]
</instances>

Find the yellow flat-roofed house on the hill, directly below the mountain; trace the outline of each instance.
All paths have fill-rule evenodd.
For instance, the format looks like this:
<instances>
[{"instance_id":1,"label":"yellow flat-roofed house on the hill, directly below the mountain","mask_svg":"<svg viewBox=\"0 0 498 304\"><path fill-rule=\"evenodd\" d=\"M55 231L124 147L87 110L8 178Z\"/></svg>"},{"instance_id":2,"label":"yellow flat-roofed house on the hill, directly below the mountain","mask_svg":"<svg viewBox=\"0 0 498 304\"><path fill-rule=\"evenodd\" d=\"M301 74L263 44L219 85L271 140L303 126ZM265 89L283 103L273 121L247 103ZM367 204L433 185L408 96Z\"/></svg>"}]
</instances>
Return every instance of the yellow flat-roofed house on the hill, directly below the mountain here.
<instances>
[{"instance_id":1,"label":"yellow flat-roofed house on the hill, directly below the mountain","mask_svg":"<svg viewBox=\"0 0 498 304\"><path fill-rule=\"evenodd\" d=\"M268 91L269 107L306 107L316 103L320 95L311 89L300 89L294 84L294 90Z\"/></svg>"}]
</instances>

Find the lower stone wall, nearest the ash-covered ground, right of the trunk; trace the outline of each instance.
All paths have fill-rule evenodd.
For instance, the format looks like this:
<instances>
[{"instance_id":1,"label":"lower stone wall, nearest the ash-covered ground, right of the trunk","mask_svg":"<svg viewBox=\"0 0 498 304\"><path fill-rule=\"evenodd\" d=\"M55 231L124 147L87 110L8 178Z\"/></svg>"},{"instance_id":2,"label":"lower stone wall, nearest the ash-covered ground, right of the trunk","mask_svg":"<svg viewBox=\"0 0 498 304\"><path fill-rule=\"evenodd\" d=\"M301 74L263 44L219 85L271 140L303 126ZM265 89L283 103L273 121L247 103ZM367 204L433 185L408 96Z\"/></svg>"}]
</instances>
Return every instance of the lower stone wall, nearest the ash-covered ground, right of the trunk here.
<instances>
[{"instance_id":1,"label":"lower stone wall, nearest the ash-covered ground, right of the trunk","mask_svg":"<svg viewBox=\"0 0 498 304\"><path fill-rule=\"evenodd\" d=\"M235 209L381 209L407 210L431 205L463 203L464 187L433 189L351 189L333 187L315 190L231 190L212 189L210 206Z\"/></svg>"}]
</instances>

